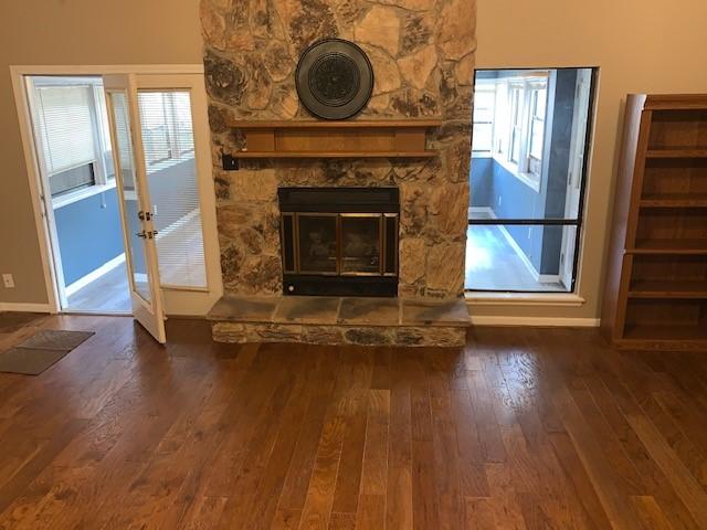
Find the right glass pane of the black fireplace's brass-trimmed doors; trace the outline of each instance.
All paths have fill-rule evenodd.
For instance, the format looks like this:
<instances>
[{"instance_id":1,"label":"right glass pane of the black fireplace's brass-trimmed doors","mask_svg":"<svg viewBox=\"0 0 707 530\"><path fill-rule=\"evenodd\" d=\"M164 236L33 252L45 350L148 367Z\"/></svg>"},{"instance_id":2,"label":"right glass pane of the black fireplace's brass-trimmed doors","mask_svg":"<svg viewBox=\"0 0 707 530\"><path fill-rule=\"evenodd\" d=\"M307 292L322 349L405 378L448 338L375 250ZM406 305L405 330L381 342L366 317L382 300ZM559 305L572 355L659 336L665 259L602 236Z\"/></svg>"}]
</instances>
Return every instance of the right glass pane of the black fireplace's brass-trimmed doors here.
<instances>
[{"instance_id":1,"label":"right glass pane of the black fireplace's brass-trimmed doors","mask_svg":"<svg viewBox=\"0 0 707 530\"><path fill-rule=\"evenodd\" d=\"M380 215L341 214L341 272L380 274Z\"/></svg>"}]
</instances>

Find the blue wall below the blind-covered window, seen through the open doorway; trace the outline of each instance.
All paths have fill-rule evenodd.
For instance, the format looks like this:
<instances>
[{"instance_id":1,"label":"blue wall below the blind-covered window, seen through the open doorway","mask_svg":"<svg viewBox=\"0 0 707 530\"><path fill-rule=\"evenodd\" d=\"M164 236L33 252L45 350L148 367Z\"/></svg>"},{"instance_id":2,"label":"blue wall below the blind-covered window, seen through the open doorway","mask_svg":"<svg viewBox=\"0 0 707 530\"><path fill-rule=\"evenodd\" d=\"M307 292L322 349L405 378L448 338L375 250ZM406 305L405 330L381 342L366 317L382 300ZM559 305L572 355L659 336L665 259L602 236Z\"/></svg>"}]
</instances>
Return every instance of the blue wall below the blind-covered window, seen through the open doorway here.
<instances>
[{"instance_id":1,"label":"blue wall below the blind-covered window, seen through the open doorway","mask_svg":"<svg viewBox=\"0 0 707 530\"><path fill-rule=\"evenodd\" d=\"M54 218L65 285L123 254L115 188L59 208Z\"/></svg>"}]
</instances>

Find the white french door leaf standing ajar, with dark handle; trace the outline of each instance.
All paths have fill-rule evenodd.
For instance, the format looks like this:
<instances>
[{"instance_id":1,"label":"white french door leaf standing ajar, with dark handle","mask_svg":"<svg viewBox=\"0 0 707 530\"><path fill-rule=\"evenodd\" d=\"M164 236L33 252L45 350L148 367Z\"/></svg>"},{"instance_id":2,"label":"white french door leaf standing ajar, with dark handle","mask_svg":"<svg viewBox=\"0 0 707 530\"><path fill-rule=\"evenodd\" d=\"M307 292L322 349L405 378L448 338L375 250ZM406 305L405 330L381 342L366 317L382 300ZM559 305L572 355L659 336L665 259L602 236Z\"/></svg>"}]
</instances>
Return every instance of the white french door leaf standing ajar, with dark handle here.
<instances>
[{"instance_id":1,"label":"white french door leaf standing ajar, with dark handle","mask_svg":"<svg viewBox=\"0 0 707 530\"><path fill-rule=\"evenodd\" d=\"M135 80L129 75L103 78L108 106L113 160L120 202L125 256L135 319L165 343L165 308L159 289L151 202L143 162L143 145L135 135L139 121Z\"/></svg>"}]
</instances>

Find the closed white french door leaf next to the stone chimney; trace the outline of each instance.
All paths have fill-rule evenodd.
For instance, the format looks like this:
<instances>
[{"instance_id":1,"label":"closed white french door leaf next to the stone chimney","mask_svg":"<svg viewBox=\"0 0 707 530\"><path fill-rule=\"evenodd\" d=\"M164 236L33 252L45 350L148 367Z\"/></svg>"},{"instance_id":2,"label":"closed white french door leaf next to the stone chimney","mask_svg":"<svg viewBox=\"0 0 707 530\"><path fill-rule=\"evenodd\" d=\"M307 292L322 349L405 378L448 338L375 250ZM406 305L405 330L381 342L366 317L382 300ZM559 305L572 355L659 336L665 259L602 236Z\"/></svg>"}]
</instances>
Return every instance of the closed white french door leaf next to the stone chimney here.
<instances>
[{"instance_id":1,"label":"closed white french door leaf next to the stone chimney","mask_svg":"<svg viewBox=\"0 0 707 530\"><path fill-rule=\"evenodd\" d=\"M136 75L134 98L165 308L202 316L223 290L203 75Z\"/></svg>"}]
</instances>

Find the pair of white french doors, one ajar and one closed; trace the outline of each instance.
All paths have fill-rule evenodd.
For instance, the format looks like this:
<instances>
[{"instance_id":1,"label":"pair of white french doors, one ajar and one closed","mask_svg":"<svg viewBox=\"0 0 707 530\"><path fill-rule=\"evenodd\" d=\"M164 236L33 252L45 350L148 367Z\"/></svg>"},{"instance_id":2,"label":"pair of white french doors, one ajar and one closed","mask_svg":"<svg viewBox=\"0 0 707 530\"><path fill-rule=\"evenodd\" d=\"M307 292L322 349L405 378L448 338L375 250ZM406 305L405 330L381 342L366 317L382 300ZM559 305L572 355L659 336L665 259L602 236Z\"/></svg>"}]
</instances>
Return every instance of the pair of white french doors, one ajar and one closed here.
<instances>
[{"instance_id":1,"label":"pair of white french doors, one ajar and one closed","mask_svg":"<svg viewBox=\"0 0 707 530\"><path fill-rule=\"evenodd\" d=\"M104 86L133 308L163 341L165 314L202 316L222 295L203 76L108 75Z\"/></svg>"}]
</instances>

